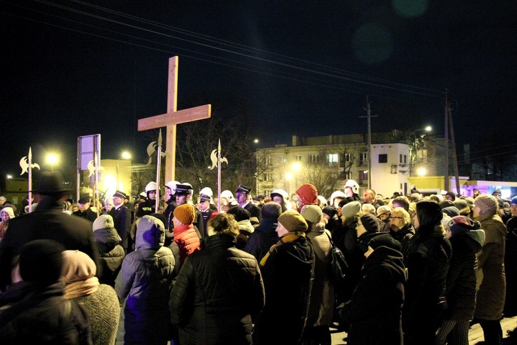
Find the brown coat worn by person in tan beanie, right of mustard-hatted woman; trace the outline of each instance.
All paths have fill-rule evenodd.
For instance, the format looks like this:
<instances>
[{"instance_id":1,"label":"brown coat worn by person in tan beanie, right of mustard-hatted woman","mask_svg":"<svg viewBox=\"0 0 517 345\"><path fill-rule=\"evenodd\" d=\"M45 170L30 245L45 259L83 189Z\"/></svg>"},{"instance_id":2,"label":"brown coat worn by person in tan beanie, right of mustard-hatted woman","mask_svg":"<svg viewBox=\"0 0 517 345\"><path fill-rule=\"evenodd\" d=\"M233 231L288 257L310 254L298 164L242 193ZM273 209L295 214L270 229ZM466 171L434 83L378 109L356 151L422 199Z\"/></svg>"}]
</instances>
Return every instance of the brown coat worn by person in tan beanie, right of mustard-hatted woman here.
<instances>
[{"instance_id":1,"label":"brown coat worn by person in tan beanie, right of mustard-hatted woman","mask_svg":"<svg viewBox=\"0 0 517 345\"><path fill-rule=\"evenodd\" d=\"M325 326L332 322L334 316L334 285L330 280L330 231L325 230L325 223L310 224L306 233L314 249L314 282L312 284L309 314L309 326Z\"/></svg>"}]
</instances>

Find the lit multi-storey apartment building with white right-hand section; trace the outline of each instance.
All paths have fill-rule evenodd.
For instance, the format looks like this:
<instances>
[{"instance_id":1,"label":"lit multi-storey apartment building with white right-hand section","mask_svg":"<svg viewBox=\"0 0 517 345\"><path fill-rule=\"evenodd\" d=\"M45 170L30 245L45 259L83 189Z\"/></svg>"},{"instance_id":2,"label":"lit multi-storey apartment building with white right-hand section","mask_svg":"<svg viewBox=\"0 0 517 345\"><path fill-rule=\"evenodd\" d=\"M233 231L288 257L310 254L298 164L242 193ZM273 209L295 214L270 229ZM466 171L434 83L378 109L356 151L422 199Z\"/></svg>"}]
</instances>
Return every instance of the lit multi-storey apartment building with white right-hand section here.
<instances>
[{"instance_id":1,"label":"lit multi-storey apartment building with white right-hand section","mask_svg":"<svg viewBox=\"0 0 517 345\"><path fill-rule=\"evenodd\" d=\"M314 184L320 195L343 190L347 179L361 186L371 179L372 189L385 197L409 193L410 146L401 132L372 133L368 168L366 134L292 137L292 145L257 150L256 193L268 196L277 189L289 195L304 183ZM422 159L419 160L423 164Z\"/></svg>"}]
</instances>

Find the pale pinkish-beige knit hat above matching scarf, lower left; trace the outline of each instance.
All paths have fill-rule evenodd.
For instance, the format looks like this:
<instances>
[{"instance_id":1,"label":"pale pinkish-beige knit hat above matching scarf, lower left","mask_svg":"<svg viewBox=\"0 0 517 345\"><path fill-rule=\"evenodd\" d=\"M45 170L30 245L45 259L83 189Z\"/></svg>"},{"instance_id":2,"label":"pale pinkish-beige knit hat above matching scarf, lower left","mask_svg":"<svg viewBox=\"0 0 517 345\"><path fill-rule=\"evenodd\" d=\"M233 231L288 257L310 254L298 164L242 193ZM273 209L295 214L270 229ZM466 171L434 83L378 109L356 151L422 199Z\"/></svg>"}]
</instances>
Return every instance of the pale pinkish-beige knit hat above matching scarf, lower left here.
<instances>
[{"instance_id":1,"label":"pale pinkish-beige knit hat above matching scarf, lower left","mask_svg":"<svg viewBox=\"0 0 517 345\"><path fill-rule=\"evenodd\" d=\"M92 258L79 250L63 251L63 273L61 281L65 284L80 282L95 276L97 267Z\"/></svg>"}]
</instances>

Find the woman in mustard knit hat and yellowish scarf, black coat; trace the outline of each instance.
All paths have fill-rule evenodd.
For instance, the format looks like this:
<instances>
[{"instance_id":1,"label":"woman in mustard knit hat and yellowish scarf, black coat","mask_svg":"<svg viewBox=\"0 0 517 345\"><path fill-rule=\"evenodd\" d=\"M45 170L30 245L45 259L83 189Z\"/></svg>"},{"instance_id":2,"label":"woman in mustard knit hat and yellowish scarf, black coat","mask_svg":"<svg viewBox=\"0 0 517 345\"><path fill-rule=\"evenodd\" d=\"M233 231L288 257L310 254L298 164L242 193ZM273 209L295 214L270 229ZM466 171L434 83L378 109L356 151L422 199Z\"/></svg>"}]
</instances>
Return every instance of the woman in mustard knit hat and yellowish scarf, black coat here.
<instances>
[{"instance_id":1,"label":"woman in mustard knit hat and yellowish scarf, black coat","mask_svg":"<svg viewBox=\"0 0 517 345\"><path fill-rule=\"evenodd\" d=\"M256 344L301 341L314 275L314 250L305 237L306 230L307 221L295 210L278 217L276 233L280 240L260 262L265 306L255 324ZM278 325L282 325L281 332Z\"/></svg>"}]
</instances>

